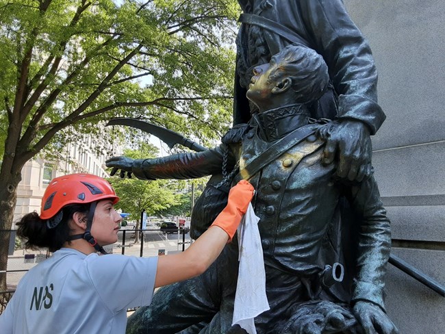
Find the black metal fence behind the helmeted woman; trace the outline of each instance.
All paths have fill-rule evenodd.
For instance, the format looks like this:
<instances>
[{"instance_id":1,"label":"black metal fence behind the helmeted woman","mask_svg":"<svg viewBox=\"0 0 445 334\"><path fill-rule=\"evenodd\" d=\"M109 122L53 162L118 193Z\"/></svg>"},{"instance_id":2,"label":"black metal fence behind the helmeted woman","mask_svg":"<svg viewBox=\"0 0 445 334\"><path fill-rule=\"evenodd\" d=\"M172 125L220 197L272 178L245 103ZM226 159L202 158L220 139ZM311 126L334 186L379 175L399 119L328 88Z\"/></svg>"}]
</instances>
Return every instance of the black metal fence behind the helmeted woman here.
<instances>
[{"instance_id":1,"label":"black metal fence behind the helmeted woman","mask_svg":"<svg viewBox=\"0 0 445 334\"><path fill-rule=\"evenodd\" d=\"M105 246L104 248L107 253L138 257L177 253L184 251L191 242L190 236L182 232L183 230L181 229L176 232L169 231L169 233L164 233L159 227L136 230L131 226L127 226L120 229L118 241L115 244ZM0 244L0 254L3 254L3 259L0 258L2 267L0 268L0 314L5 309L12 294L14 294L18 281L21 280L23 275L51 256L51 253L46 248L25 250L23 248L24 243L16 237L15 230L0 231L0 237L8 237L8 234L9 243ZM135 243L136 239L138 239L137 243Z\"/></svg>"}]
</instances>

